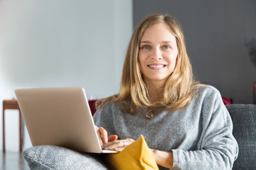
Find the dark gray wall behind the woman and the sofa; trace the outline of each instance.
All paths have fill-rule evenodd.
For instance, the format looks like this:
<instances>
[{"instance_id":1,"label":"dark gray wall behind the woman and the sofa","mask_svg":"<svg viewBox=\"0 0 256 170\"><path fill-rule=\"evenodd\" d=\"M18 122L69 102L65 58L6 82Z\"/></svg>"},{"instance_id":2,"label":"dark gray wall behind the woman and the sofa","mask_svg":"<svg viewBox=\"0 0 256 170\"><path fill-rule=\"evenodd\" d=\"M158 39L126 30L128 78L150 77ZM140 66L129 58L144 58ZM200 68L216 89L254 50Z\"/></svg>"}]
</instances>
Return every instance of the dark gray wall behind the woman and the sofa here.
<instances>
[{"instance_id":1,"label":"dark gray wall behind the woman and the sofa","mask_svg":"<svg viewBox=\"0 0 256 170\"><path fill-rule=\"evenodd\" d=\"M133 0L133 24L167 13L181 24L194 74L234 103L252 103L256 67L245 39L256 38L255 0Z\"/></svg>"}]
</instances>

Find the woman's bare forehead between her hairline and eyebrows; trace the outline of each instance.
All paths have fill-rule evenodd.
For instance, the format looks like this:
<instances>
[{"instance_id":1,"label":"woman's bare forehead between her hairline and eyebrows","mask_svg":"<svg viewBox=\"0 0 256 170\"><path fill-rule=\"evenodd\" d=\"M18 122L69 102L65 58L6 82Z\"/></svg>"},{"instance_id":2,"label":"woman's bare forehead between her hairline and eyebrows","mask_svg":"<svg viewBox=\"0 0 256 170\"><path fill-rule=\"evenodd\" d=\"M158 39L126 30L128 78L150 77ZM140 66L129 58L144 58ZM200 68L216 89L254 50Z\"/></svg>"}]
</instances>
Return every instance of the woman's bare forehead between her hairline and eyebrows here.
<instances>
[{"instance_id":1,"label":"woman's bare forehead between her hairline and eyebrows","mask_svg":"<svg viewBox=\"0 0 256 170\"><path fill-rule=\"evenodd\" d=\"M149 26L142 36L140 41L172 41L176 42L174 34L172 34L170 28L164 24L153 24Z\"/></svg>"}]
</instances>

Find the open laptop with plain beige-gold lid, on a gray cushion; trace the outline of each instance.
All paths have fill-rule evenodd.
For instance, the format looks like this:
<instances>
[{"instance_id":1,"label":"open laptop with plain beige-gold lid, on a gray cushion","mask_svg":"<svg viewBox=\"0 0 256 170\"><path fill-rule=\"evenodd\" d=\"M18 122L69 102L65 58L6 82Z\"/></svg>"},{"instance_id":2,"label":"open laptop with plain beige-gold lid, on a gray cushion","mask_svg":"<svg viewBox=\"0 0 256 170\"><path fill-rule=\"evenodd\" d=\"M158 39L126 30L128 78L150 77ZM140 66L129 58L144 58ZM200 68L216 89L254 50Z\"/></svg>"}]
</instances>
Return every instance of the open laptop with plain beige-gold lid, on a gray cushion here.
<instances>
[{"instance_id":1,"label":"open laptop with plain beige-gold lid, on a gray cushion","mask_svg":"<svg viewBox=\"0 0 256 170\"><path fill-rule=\"evenodd\" d=\"M56 145L79 152L102 150L82 87L15 89L33 146Z\"/></svg>"}]
</instances>

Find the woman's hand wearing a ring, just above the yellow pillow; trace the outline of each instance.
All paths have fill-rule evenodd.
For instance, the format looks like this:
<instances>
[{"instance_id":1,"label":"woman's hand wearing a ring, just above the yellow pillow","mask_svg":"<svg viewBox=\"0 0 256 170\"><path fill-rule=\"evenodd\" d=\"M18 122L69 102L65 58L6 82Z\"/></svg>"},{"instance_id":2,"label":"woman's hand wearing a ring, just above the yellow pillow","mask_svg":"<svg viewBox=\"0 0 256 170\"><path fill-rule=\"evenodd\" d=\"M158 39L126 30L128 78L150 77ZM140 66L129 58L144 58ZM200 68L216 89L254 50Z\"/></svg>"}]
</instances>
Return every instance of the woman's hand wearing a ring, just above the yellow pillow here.
<instances>
[{"instance_id":1,"label":"woman's hand wearing a ring, just above the yellow pillow","mask_svg":"<svg viewBox=\"0 0 256 170\"><path fill-rule=\"evenodd\" d=\"M124 140L114 140L102 146L103 149L111 150L115 149L116 151L122 151L126 146L134 142L133 139L126 138Z\"/></svg>"}]
</instances>

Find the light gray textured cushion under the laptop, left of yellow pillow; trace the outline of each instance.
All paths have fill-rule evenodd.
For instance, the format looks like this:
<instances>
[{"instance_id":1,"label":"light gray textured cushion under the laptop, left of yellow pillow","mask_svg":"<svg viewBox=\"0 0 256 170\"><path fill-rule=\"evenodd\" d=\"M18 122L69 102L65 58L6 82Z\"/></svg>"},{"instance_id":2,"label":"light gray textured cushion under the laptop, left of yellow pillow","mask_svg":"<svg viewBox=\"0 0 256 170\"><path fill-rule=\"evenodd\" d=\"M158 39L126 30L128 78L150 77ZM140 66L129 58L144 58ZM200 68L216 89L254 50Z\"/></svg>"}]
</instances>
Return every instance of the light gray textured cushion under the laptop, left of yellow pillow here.
<instances>
[{"instance_id":1,"label":"light gray textured cushion under the laptop, left of yellow pillow","mask_svg":"<svg viewBox=\"0 0 256 170\"><path fill-rule=\"evenodd\" d=\"M31 170L107 170L99 154L80 153L59 146L36 146L23 151Z\"/></svg>"}]
</instances>

